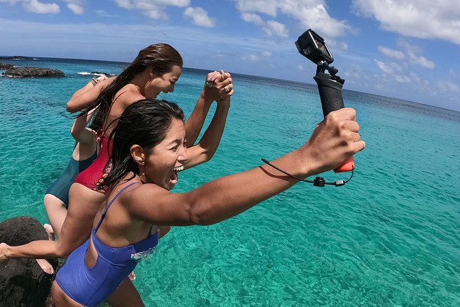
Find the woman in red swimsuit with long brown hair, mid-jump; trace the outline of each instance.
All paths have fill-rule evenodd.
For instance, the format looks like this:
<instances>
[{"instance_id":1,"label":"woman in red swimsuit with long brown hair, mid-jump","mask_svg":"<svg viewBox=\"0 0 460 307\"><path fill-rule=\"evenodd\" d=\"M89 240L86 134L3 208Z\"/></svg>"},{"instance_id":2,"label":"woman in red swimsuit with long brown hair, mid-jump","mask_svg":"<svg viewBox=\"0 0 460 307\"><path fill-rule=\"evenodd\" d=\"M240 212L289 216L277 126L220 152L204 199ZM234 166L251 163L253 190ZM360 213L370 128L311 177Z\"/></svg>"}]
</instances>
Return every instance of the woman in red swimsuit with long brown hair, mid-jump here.
<instances>
[{"instance_id":1,"label":"woman in red swimsuit with long brown hair, mid-jump","mask_svg":"<svg viewBox=\"0 0 460 307\"><path fill-rule=\"evenodd\" d=\"M72 97L67 111L83 113L96 108L91 128L101 137L100 154L96 161L77 176L69 191L69 209L61 236L57 241L34 241L22 246L0 244L0 261L6 258L53 258L67 257L89 237L91 223L105 191L98 189L109 171L111 140L107 138L116 127L118 118L129 105L144 98L156 98L158 94L174 91L174 85L182 74L182 56L171 45L155 44L144 48L120 75L101 81L82 95ZM226 123L229 97L233 94L232 78L226 72L211 72L198 98L192 114L185 123L188 145L191 147L203 127L213 101L226 100L217 105L214 117L203 138L193 149L186 168L199 165L212 158L217 150ZM168 231L160 227L160 237ZM126 280L117 293L136 292ZM116 301L116 293L114 293ZM120 295L125 297L125 295ZM131 299L133 299L131 295ZM140 297L138 295L138 301ZM142 304L142 301L140 301ZM120 301L118 301L120 303ZM130 306L137 306L136 300Z\"/></svg>"}]
</instances>

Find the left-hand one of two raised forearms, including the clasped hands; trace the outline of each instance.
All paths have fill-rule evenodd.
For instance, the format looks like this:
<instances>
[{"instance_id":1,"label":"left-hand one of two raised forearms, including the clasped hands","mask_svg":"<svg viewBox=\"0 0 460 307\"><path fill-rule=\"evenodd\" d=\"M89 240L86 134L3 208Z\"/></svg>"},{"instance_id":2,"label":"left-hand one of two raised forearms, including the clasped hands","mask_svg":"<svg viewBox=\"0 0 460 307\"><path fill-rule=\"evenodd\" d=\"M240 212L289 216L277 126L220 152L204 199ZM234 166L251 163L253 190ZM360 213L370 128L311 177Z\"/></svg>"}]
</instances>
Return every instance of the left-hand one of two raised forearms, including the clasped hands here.
<instances>
[{"instance_id":1,"label":"left-hand one of two raised forearms, including the clasped hands","mask_svg":"<svg viewBox=\"0 0 460 307\"><path fill-rule=\"evenodd\" d=\"M199 95L195 109L185 123L188 147L193 146L203 128L204 120L208 115L212 101L221 100L233 94L226 92L225 87L232 84L232 78L228 72L210 72L206 77L206 82L212 87L204 86Z\"/></svg>"}]
</instances>

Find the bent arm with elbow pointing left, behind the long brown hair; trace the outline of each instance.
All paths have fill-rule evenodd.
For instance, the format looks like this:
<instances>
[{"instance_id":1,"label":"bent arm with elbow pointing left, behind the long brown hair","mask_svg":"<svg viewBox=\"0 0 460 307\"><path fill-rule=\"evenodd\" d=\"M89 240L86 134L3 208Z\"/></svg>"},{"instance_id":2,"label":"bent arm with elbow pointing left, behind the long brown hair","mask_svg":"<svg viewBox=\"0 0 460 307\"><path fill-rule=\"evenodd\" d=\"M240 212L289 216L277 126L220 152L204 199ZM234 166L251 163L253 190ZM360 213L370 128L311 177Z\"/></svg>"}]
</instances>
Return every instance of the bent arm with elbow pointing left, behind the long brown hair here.
<instances>
[{"instance_id":1,"label":"bent arm with elbow pointing left, behind the long brown hair","mask_svg":"<svg viewBox=\"0 0 460 307\"><path fill-rule=\"evenodd\" d=\"M88 83L81 89L78 89L72 95L72 98L67 102L65 109L67 112L78 112L82 109L85 109L90 103L92 103L96 98L98 98L100 92L107 87L116 77L107 78L105 80L101 80L100 82L93 85L92 83Z\"/></svg>"}]
</instances>

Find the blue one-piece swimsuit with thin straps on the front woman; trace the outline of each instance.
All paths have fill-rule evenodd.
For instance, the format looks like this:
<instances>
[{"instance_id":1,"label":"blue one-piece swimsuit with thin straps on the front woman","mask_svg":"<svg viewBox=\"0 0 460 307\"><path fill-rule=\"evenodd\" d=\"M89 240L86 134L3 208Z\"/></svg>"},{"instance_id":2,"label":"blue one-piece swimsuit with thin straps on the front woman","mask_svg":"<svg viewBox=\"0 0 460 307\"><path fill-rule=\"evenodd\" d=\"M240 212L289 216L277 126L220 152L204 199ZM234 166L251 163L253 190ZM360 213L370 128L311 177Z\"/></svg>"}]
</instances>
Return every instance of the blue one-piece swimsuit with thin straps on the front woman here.
<instances>
[{"instance_id":1,"label":"blue one-piece swimsuit with thin straps on the front woman","mask_svg":"<svg viewBox=\"0 0 460 307\"><path fill-rule=\"evenodd\" d=\"M67 262L56 275L56 282L64 293L84 306L98 306L102 301L105 301L128 277L136 264L155 251L155 247L158 244L158 233L155 232L154 235L151 235L151 229L148 237L144 240L129 246L116 248L103 244L96 235L100 223L104 220L105 214L113 201L125 189L135 183L140 182L133 182L118 192L109 202L104 213L102 213L96 229L91 231L94 248L98 253L96 264L92 268L85 264L85 253L89 244L88 239L69 255Z\"/></svg>"}]
</instances>

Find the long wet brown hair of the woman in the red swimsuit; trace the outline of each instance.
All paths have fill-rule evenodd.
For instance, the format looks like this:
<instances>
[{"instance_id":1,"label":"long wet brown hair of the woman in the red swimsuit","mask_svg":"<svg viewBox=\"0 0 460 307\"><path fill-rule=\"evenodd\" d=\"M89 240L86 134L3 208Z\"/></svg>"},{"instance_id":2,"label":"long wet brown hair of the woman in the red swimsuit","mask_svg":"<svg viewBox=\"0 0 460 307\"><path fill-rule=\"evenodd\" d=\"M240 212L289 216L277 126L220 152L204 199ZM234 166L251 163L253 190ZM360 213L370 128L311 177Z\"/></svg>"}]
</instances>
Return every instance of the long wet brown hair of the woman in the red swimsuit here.
<instances>
[{"instance_id":1,"label":"long wet brown hair of the woman in the red swimsuit","mask_svg":"<svg viewBox=\"0 0 460 307\"><path fill-rule=\"evenodd\" d=\"M166 43L149 45L149 47L140 50L133 63L129 64L129 66L99 94L98 98L94 100L94 103L88 105L81 114L97 108L91 123L91 129L98 131L104 125L107 116L109 116L110 107L113 98L115 98L115 94L124 87L124 85L130 83L135 75L143 72L146 67L150 67L155 74L162 76L163 74L171 72L173 66L182 67L182 65L182 56L171 45Z\"/></svg>"}]
</instances>

